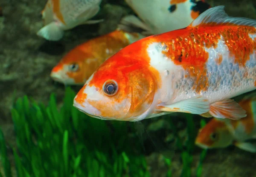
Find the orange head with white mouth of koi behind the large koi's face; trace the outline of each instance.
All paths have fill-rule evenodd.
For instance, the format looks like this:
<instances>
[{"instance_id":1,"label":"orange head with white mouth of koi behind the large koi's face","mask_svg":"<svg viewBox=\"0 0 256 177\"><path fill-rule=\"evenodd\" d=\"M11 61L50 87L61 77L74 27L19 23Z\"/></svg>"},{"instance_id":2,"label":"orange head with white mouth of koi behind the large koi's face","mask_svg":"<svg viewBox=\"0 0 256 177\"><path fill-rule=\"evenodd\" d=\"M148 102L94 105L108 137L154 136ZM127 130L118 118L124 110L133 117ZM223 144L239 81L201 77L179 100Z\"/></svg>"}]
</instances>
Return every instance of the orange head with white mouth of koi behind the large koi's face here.
<instances>
[{"instance_id":1,"label":"orange head with white mouth of koi behind the large koi's face","mask_svg":"<svg viewBox=\"0 0 256 177\"><path fill-rule=\"evenodd\" d=\"M83 85L98 66L98 61L90 53L76 47L52 69L50 76L67 85Z\"/></svg>"}]
</instances>

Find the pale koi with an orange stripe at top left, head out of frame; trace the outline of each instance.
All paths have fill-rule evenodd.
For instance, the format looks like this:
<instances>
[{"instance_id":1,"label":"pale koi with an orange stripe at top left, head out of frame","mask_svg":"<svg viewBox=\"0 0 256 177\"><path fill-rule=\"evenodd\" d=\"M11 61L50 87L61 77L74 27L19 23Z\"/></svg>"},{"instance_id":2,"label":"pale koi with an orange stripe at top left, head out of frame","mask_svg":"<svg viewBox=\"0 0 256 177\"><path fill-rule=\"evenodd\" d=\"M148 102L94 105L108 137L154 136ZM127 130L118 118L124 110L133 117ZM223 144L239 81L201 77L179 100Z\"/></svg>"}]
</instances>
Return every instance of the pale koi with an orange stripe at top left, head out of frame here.
<instances>
[{"instance_id":1,"label":"pale koi with an orange stripe at top left, head out of frame","mask_svg":"<svg viewBox=\"0 0 256 177\"><path fill-rule=\"evenodd\" d=\"M99 23L102 20L89 20L95 16L102 0L48 0L41 12L44 27L37 34L47 40L57 41L64 30L81 24Z\"/></svg>"}]
</instances>

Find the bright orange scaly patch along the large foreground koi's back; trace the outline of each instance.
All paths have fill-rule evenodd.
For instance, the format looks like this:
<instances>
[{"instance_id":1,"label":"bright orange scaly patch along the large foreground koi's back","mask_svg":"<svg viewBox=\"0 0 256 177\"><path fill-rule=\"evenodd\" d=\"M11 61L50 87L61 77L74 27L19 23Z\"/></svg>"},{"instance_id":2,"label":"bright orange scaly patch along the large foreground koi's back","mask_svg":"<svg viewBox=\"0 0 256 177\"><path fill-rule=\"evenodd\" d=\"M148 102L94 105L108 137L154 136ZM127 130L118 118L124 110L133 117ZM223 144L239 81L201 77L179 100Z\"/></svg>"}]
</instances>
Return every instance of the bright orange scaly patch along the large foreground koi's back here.
<instances>
[{"instance_id":1,"label":"bright orange scaly patch along the large foreground koi's back","mask_svg":"<svg viewBox=\"0 0 256 177\"><path fill-rule=\"evenodd\" d=\"M176 65L182 66L190 76L195 77L193 87L199 93L208 88L206 63L209 54L205 51L205 47L216 48L218 40L221 36L224 37L230 57L234 57L234 62L244 67L246 61L250 59L250 54L256 49L256 40L253 41L249 34L256 34L256 29L250 26L226 26L225 24L207 26L203 24L199 28L188 26L185 29L155 35L155 38L168 46L169 50L163 51L163 54ZM222 56L220 55L218 63L221 62Z\"/></svg>"}]
</instances>

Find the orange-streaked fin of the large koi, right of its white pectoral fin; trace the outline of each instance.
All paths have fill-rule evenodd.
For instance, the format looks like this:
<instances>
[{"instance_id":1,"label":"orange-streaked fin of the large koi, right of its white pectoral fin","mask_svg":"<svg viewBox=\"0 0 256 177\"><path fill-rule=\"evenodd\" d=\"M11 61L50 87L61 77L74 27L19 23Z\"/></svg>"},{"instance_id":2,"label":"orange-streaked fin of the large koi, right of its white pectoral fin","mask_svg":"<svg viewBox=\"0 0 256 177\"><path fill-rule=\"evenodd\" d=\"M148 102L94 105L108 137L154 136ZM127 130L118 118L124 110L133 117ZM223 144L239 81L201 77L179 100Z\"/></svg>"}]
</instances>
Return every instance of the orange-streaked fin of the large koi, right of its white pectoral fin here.
<instances>
[{"instance_id":1,"label":"orange-streaked fin of the large koi, right of its white pectoral fin","mask_svg":"<svg viewBox=\"0 0 256 177\"><path fill-rule=\"evenodd\" d=\"M246 111L234 100L228 99L212 103L209 113L216 118L239 120L246 117Z\"/></svg>"}]
</instances>

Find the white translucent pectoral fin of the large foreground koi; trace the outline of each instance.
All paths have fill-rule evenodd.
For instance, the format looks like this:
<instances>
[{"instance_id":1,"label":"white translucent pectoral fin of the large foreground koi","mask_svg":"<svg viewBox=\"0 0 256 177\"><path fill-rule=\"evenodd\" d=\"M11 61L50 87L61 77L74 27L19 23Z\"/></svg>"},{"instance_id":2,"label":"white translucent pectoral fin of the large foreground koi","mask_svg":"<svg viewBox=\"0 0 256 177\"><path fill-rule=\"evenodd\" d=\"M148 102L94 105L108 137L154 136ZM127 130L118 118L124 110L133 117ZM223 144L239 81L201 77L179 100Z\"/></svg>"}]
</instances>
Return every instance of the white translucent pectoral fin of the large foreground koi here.
<instances>
[{"instance_id":1,"label":"white translucent pectoral fin of the large foreground koi","mask_svg":"<svg viewBox=\"0 0 256 177\"><path fill-rule=\"evenodd\" d=\"M156 109L169 112L204 114L209 111L209 100L206 97L199 95L170 105L160 103L159 106L156 107Z\"/></svg>"}]
</instances>

